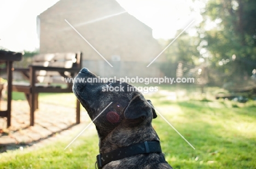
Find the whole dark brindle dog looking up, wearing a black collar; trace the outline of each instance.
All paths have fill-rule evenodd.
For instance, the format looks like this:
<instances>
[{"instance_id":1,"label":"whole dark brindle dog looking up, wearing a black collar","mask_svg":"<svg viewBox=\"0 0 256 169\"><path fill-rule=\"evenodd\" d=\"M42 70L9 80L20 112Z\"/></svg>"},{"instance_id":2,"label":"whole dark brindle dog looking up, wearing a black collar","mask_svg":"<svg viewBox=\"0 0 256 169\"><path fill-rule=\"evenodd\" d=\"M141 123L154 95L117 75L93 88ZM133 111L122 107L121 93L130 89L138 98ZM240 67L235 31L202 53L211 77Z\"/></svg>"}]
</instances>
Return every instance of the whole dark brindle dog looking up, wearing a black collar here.
<instances>
[{"instance_id":1,"label":"whole dark brindle dog looking up, wearing a black collar","mask_svg":"<svg viewBox=\"0 0 256 169\"><path fill-rule=\"evenodd\" d=\"M110 92L108 88L119 90ZM170 169L152 126L157 117L154 107L131 88L126 82L102 82L86 68L75 77L73 92L98 132L100 154L95 168Z\"/></svg>"}]
</instances>

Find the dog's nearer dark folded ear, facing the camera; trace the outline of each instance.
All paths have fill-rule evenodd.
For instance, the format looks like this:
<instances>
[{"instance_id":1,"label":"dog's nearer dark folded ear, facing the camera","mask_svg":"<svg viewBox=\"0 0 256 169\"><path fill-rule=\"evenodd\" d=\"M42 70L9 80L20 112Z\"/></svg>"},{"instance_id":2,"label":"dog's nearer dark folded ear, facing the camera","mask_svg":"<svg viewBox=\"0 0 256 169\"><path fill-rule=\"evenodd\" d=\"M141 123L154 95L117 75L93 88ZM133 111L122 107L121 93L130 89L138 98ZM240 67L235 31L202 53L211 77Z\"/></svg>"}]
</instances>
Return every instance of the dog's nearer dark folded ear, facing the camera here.
<instances>
[{"instance_id":1,"label":"dog's nearer dark folded ear, facing the camera","mask_svg":"<svg viewBox=\"0 0 256 169\"><path fill-rule=\"evenodd\" d=\"M152 108L139 95L135 96L126 107L124 116L127 119L146 118L150 115Z\"/></svg>"}]
</instances>

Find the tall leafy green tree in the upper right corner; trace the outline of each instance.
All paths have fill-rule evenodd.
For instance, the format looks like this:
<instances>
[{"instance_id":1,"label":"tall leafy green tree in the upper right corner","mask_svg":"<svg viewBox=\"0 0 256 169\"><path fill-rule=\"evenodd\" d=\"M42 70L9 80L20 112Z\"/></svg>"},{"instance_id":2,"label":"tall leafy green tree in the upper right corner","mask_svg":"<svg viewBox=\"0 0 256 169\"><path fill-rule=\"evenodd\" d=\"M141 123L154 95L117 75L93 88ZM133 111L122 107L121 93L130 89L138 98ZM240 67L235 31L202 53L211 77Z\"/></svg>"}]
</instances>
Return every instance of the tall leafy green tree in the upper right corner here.
<instances>
[{"instance_id":1,"label":"tall leafy green tree in the upper right corner","mask_svg":"<svg viewBox=\"0 0 256 169\"><path fill-rule=\"evenodd\" d=\"M223 82L243 82L256 68L256 1L210 0L199 33ZM209 27L212 23L212 27ZM208 28L207 28L208 27Z\"/></svg>"}]
</instances>

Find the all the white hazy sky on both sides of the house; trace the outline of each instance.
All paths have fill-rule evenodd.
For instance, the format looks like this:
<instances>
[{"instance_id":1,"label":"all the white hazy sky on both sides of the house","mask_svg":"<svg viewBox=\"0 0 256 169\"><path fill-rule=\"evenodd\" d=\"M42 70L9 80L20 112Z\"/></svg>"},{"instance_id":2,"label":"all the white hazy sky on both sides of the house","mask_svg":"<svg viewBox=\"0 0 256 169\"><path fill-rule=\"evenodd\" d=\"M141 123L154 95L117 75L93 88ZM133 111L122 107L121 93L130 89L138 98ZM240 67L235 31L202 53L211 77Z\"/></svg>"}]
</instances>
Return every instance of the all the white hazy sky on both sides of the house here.
<instances>
[{"instance_id":1,"label":"all the white hazy sky on both sides of the house","mask_svg":"<svg viewBox=\"0 0 256 169\"><path fill-rule=\"evenodd\" d=\"M36 17L59 0L0 0L0 48L11 51L39 47ZM193 19L199 22L202 3L191 0L117 0L131 15L153 29L154 38L173 38ZM194 24L196 24L196 22Z\"/></svg>"}]
</instances>

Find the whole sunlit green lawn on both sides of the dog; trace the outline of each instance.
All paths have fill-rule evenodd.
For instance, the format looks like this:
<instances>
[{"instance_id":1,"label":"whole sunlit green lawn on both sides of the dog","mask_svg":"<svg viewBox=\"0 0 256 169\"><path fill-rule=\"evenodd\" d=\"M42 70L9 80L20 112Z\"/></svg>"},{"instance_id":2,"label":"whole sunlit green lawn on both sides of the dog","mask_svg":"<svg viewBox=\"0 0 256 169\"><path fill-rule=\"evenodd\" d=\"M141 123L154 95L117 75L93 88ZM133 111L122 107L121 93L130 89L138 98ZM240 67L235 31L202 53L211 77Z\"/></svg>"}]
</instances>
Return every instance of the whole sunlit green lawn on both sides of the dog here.
<instances>
[{"instance_id":1,"label":"whole sunlit green lawn on both sides of the dog","mask_svg":"<svg viewBox=\"0 0 256 169\"><path fill-rule=\"evenodd\" d=\"M162 151L173 168L256 168L256 102L214 100L214 94L220 90L207 88L206 94L200 94L195 88L162 87L159 92L146 95L156 110L195 147L190 147L161 116L154 119ZM40 99L56 100L56 96L46 94ZM2 153L0 168L95 168L95 130L85 130L64 150L74 137L75 134L36 150Z\"/></svg>"}]
</instances>

